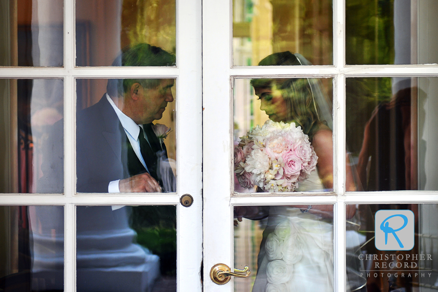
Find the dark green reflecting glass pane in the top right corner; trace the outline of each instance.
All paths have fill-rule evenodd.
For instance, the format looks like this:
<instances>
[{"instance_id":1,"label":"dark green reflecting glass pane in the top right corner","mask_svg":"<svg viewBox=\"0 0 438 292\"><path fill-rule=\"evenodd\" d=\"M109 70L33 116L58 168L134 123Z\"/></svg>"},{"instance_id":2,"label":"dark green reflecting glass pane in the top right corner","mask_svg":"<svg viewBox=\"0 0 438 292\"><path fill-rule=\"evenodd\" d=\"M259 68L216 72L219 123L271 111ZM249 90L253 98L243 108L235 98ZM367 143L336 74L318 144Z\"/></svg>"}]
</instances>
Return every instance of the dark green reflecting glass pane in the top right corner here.
<instances>
[{"instance_id":1,"label":"dark green reflecting glass pane in the top right corner","mask_svg":"<svg viewBox=\"0 0 438 292\"><path fill-rule=\"evenodd\" d=\"M346 63L437 63L435 0L346 0Z\"/></svg>"}]
</instances>

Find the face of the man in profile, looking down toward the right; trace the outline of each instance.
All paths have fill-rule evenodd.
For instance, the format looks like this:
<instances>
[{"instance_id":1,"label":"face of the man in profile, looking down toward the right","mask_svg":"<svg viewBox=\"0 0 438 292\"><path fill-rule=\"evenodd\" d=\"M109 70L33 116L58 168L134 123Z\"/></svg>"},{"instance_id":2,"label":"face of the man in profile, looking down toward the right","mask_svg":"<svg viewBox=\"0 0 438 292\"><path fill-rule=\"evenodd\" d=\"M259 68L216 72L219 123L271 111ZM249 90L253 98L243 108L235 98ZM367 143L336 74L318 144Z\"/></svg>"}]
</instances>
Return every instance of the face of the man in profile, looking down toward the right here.
<instances>
[{"instance_id":1,"label":"face of the man in profile, looking down toward the right","mask_svg":"<svg viewBox=\"0 0 438 292\"><path fill-rule=\"evenodd\" d=\"M151 123L156 119L163 117L167 103L174 100L171 88L175 83L175 79L161 79L160 84L156 88L138 88L138 124ZM137 83L138 84L138 83Z\"/></svg>"}]
</instances>

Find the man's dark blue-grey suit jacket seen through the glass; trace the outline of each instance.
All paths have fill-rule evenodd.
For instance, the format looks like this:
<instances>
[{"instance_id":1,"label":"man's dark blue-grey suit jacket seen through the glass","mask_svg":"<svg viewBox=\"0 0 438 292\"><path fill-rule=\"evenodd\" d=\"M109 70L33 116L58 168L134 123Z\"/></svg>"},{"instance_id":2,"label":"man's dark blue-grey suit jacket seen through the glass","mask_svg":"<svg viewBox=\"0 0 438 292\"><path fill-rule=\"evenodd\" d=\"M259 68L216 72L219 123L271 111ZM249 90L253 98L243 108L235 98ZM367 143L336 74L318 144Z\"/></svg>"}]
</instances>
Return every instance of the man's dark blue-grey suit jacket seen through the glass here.
<instances>
[{"instance_id":1,"label":"man's dark blue-grey suit jacket seen through the glass","mask_svg":"<svg viewBox=\"0 0 438 292\"><path fill-rule=\"evenodd\" d=\"M127 148L123 147L128 142L128 137L105 95L96 104L79 111L76 118L76 190L79 193L107 193L111 181L129 177ZM55 188L55 192L42 191L62 193L63 120L54 126L54 133L57 134L54 135L52 143L49 143L51 145L48 147L50 157L45 159L42 171L43 179L51 182L44 185ZM152 140L149 141L151 148L157 151L159 147L161 150L158 138L154 136ZM165 146L163 150L167 161ZM145 160L157 159L156 156L143 158ZM173 173L171 176L174 184ZM157 179L157 177L154 178Z\"/></svg>"}]
</instances>

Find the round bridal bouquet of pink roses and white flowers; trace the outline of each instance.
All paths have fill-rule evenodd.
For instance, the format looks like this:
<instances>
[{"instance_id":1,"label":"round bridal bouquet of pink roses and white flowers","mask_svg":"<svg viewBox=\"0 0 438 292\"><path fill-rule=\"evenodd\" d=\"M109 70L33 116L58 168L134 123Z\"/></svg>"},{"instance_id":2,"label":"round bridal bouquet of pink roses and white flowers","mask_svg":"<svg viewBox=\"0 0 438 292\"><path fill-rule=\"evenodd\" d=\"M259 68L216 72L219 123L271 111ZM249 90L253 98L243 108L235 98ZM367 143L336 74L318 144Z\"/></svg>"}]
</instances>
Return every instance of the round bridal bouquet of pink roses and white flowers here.
<instances>
[{"instance_id":1,"label":"round bridal bouquet of pink roses and white flowers","mask_svg":"<svg viewBox=\"0 0 438 292\"><path fill-rule=\"evenodd\" d=\"M234 172L244 188L293 192L316 168L318 156L309 137L293 122L267 120L240 139L234 149Z\"/></svg>"}]
</instances>

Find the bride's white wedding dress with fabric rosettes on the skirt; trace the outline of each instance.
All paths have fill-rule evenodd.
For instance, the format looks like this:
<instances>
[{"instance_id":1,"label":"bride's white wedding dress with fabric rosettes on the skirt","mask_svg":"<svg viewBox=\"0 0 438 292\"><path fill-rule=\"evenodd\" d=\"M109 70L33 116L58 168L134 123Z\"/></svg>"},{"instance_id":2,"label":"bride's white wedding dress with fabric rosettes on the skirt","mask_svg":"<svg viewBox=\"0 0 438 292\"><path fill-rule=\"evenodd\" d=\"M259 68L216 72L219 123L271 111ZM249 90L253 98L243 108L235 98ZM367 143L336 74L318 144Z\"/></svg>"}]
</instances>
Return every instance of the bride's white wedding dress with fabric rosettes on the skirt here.
<instances>
[{"instance_id":1,"label":"bride's white wedding dress with fabric rosettes on the skirt","mask_svg":"<svg viewBox=\"0 0 438 292\"><path fill-rule=\"evenodd\" d=\"M323 191L317 171L297 191ZM333 292L333 223L310 212L271 206L253 292Z\"/></svg>"}]
</instances>

